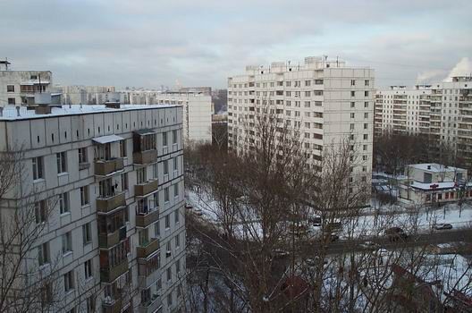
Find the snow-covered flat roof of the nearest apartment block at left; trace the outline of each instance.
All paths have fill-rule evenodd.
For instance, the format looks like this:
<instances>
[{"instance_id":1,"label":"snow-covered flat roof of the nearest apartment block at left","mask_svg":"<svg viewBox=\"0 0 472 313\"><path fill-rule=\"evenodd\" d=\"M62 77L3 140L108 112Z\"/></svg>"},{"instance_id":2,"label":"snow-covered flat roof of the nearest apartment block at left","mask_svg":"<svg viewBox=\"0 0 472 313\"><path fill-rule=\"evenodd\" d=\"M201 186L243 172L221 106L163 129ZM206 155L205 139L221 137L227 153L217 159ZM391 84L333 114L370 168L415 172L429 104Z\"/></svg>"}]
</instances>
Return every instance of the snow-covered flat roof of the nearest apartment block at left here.
<instances>
[{"instance_id":1,"label":"snow-covered flat roof of the nearest apartment block at left","mask_svg":"<svg viewBox=\"0 0 472 313\"><path fill-rule=\"evenodd\" d=\"M31 118L45 118L51 116L65 116L65 115L76 115L76 114L94 114L94 113L110 113L120 111L132 111L132 110L150 110L164 107L178 107L177 105L121 105L119 108L106 107L104 105L83 105L83 106L53 106L51 108L51 114L36 114L35 110L28 110L26 106L20 107L20 116L17 116L15 106L4 106L3 114L0 116L0 121L14 121L14 120L27 120Z\"/></svg>"}]
</instances>

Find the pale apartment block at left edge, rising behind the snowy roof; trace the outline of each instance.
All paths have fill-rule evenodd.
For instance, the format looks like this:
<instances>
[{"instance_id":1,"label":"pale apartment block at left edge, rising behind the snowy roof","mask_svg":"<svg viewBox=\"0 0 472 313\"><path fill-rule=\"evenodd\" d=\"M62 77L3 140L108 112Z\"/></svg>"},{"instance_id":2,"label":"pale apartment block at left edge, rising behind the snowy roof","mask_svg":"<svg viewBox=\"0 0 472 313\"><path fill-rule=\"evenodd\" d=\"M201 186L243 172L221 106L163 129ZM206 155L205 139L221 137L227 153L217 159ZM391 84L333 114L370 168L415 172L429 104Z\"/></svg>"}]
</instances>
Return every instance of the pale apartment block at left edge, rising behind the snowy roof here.
<instances>
[{"instance_id":1,"label":"pale apartment block at left edge, rising behind the snowy roof","mask_svg":"<svg viewBox=\"0 0 472 313\"><path fill-rule=\"evenodd\" d=\"M49 71L7 70L4 61L0 63L0 107L35 105L35 94L51 93L53 74ZM61 103L61 94L53 93L53 103Z\"/></svg>"}]
</instances>

